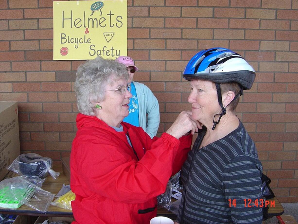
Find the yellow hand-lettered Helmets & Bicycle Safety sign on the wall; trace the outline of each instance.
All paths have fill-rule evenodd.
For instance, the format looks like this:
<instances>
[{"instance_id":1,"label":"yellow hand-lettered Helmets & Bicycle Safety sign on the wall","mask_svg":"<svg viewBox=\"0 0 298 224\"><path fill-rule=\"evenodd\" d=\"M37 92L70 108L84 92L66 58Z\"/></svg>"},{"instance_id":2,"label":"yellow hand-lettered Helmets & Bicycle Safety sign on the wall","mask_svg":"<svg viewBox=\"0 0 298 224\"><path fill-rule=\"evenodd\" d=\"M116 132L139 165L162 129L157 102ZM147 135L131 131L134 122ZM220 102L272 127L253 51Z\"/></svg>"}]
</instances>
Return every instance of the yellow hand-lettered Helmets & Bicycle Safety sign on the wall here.
<instances>
[{"instance_id":1,"label":"yellow hand-lettered Helmets & Bicycle Safety sign on the wall","mask_svg":"<svg viewBox=\"0 0 298 224\"><path fill-rule=\"evenodd\" d=\"M54 1L54 60L127 55L127 0Z\"/></svg>"}]
</instances>

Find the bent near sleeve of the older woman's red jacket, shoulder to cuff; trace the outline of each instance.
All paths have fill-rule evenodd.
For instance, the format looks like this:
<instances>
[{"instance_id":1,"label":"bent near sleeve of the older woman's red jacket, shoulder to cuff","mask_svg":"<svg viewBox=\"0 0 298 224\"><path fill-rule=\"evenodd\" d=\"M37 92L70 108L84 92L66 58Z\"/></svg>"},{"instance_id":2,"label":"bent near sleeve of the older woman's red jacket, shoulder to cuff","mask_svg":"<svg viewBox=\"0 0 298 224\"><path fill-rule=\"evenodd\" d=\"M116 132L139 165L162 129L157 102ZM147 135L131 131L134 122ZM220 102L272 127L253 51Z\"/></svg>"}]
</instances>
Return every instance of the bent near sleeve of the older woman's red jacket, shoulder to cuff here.
<instances>
[{"instance_id":1,"label":"bent near sleeve of the older woman's red jacket, shoulder to cuff","mask_svg":"<svg viewBox=\"0 0 298 224\"><path fill-rule=\"evenodd\" d=\"M146 202L164 193L181 141L164 133L146 142L150 149L136 161L113 139L106 139L104 144L97 139L78 141L74 158L80 184L103 197L126 203Z\"/></svg>"}]
</instances>

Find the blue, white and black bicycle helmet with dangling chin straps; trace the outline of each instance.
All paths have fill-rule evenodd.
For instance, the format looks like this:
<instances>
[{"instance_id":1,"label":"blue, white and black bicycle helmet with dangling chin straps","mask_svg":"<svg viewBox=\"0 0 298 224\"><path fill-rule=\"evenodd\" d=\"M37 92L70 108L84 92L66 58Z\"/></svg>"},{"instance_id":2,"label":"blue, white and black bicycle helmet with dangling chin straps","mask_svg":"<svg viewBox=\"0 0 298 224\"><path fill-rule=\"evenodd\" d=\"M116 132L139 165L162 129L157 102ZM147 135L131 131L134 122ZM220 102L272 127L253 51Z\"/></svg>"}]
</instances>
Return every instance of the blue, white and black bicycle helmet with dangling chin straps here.
<instances>
[{"instance_id":1,"label":"blue, white and black bicycle helmet with dangling chin straps","mask_svg":"<svg viewBox=\"0 0 298 224\"><path fill-rule=\"evenodd\" d=\"M220 122L223 115L226 114L221 99L220 83L237 82L240 86L240 92L234 97L236 99L243 94L243 90L252 88L256 73L251 65L238 53L232 50L215 47L202 50L195 54L186 65L183 71L184 79L208 80L215 82L218 103L221 106L221 114L218 121L213 117L213 128ZM234 100L233 99L233 100Z\"/></svg>"}]
</instances>

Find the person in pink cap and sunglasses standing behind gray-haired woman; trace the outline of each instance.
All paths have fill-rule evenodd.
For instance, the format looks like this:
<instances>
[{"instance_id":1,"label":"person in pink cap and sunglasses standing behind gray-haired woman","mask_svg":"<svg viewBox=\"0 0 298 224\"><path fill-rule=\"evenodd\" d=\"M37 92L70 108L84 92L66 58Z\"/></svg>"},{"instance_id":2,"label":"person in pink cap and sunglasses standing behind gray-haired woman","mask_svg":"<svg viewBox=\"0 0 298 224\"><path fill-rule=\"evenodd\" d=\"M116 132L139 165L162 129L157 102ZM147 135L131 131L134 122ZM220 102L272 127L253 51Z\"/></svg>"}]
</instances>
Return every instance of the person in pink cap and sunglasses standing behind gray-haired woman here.
<instances>
[{"instance_id":1,"label":"person in pink cap and sunglasses standing behind gray-haired woman","mask_svg":"<svg viewBox=\"0 0 298 224\"><path fill-rule=\"evenodd\" d=\"M159 104L152 91L144 84L133 81L134 73L139 69L134 65L134 60L128 56L120 56L117 62L126 66L129 74L128 85L131 85L129 102L129 115L124 122L137 127L142 127L151 137L156 136L159 127Z\"/></svg>"}]
</instances>

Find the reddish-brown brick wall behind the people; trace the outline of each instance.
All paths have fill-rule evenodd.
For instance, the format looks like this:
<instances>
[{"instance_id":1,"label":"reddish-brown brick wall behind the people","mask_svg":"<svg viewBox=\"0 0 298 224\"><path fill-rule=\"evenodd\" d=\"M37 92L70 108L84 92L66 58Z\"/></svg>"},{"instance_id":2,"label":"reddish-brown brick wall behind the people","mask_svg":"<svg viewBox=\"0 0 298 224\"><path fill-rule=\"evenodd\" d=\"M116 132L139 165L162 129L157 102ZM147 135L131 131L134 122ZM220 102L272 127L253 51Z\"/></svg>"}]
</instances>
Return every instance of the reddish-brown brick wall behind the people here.
<instances>
[{"instance_id":1,"label":"reddish-brown brick wall behind the people","mask_svg":"<svg viewBox=\"0 0 298 224\"><path fill-rule=\"evenodd\" d=\"M53 61L52 1L0 1L0 100L18 101L21 150L54 160L75 136L75 72ZM128 55L159 100L159 135L187 103L181 71L199 50L226 47L257 71L239 118L281 202L298 202L298 0L128 0Z\"/></svg>"}]
</instances>

